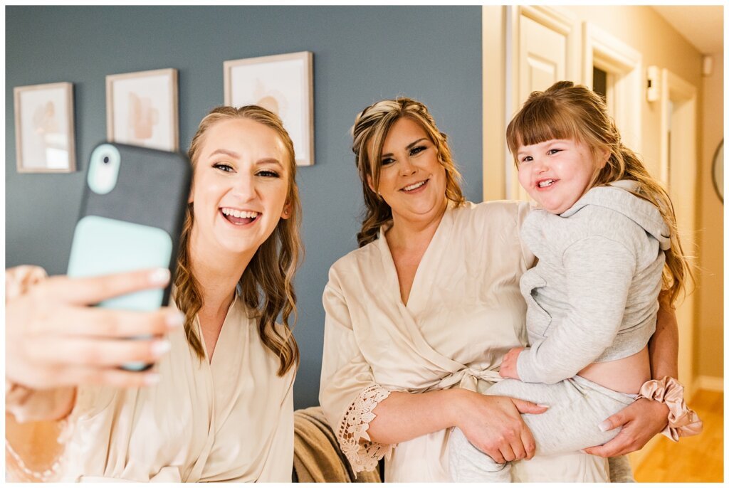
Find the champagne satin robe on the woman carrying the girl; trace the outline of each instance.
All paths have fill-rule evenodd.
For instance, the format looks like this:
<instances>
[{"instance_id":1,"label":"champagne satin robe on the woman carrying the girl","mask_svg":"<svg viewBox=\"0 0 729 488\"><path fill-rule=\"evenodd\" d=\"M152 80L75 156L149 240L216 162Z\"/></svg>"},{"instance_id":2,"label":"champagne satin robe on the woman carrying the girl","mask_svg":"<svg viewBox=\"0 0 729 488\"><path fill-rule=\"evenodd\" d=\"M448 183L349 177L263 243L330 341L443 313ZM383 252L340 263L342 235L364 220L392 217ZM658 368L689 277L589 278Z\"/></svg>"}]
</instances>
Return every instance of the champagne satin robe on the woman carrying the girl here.
<instances>
[{"instance_id":1,"label":"champagne satin robe on the woman carrying the girl","mask_svg":"<svg viewBox=\"0 0 729 488\"><path fill-rule=\"evenodd\" d=\"M378 240L330 269L324 289L319 400L357 471L385 457L385 481L450 481L450 429L383 446L370 442L373 409L391 391L483 392L504 354L526 345L519 278L534 263L521 244L524 202L449 207L416 272L407 304L381 229ZM537 399L538 401L538 399ZM515 463L516 481L607 481L588 454Z\"/></svg>"}]
</instances>

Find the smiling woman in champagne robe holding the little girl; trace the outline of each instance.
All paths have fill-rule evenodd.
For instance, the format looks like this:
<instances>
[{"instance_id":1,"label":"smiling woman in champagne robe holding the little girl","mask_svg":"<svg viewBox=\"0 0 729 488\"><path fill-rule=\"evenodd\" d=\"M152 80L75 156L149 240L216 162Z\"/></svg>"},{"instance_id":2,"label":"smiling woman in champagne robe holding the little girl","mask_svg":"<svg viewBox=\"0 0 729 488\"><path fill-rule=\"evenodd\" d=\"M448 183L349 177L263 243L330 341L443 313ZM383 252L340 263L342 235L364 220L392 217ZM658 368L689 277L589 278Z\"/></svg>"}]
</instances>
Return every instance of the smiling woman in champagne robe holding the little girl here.
<instances>
[{"instance_id":1,"label":"smiling woman in champagne robe holding the little girl","mask_svg":"<svg viewBox=\"0 0 729 488\"><path fill-rule=\"evenodd\" d=\"M324 290L320 390L343 452L355 471L385 457L386 481L451 481L457 427L497 463L531 459L520 413L546 406L481 394L500 379L504 353L527 344L519 281L534 255L519 230L529 205L465 202L446 136L417 101L367 107L353 135L366 215L360 248L332 266ZM654 378L677 375L675 318L664 305L650 347ZM667 415L665 404L636 401L609 417L620 435L591 450L640 449ZM614 461L629 470L624 457ZM606 460L580 452L515 463L512 474L610 479Z\"/></svg>"}]
</instances>

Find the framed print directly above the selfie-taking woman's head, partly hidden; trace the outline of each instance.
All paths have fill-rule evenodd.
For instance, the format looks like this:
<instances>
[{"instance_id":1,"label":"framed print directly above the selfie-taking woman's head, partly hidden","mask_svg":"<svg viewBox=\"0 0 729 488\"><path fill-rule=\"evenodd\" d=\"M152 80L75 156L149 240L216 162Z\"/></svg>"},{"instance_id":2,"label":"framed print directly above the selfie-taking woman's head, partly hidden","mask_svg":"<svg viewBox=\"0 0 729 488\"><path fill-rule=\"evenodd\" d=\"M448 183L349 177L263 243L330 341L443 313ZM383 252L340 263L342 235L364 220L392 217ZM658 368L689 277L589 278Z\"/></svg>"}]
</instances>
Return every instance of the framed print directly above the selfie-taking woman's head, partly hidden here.
<instances>
[{"instance_id":1,"label":"framed print directly above the selfie-taking woman's head, partly hidden","mask_svg":"<svg viewBox=\"0 0 729 488\"><path fill-rule=\"evenodd\" d=\"M225 61L225 105L260 105L281 117L296 164L314 164L313 54L292 52Z\"/></svg>"}]
</instances>

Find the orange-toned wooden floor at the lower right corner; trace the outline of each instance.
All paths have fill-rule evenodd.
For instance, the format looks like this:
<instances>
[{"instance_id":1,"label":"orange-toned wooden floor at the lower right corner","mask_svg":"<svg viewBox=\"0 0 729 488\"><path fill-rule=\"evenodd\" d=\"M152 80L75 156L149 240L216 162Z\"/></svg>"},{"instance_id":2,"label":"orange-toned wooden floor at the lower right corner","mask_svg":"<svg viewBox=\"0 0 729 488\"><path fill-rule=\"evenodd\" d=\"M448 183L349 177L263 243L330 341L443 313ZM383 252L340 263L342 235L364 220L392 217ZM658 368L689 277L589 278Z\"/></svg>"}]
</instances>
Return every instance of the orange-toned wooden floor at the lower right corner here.
<instances>
[{"instance_id":1,"label":"orange-toned wooden floor at the lower right corner","mask_svg":"<svg viewBox=\"0 0 729 488\"><path fill-rule=\"evenodd\" d=\"M661 436L650 454L634 467L636 481L724 481L724 393L701 390L692 398L690 407L703 420L703 432L679 442Z\"/></svg>"}]
</instances>

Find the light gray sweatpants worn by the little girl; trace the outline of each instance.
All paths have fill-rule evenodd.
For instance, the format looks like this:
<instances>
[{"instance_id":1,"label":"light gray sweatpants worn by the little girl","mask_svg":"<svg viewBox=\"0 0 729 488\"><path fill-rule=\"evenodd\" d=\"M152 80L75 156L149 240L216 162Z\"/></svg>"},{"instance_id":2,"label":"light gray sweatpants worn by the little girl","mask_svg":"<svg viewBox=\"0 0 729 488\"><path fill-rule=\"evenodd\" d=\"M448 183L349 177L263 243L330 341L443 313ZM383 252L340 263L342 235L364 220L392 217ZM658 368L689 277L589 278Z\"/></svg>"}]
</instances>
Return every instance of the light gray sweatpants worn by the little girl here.
<instances>
[{"instance_id":1,"label":"light gray sweatpants worn by the little girl","mask_svg":"<svg viewBox=\"0 0 729 488\"><path fill-rule=\"evenodd\" d=\"M537 455L575 452L605 444L620 428L602 432L599 423L635 398L579 376L553 385L504 379L488 388L486 395L521 398L550 407L543 414L522 414L537 444ZM511 481L510 463L496 463L473 446L459 428L454 428L448 438L448 460L453 481Z\"/></svg>"}]
</instances>

